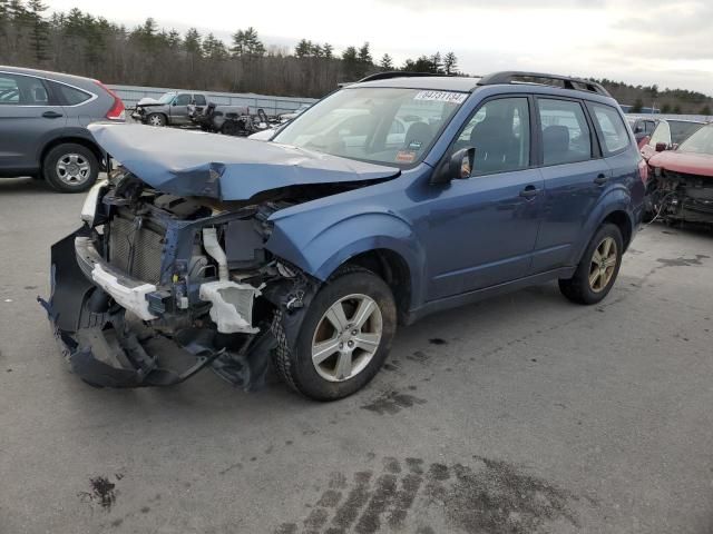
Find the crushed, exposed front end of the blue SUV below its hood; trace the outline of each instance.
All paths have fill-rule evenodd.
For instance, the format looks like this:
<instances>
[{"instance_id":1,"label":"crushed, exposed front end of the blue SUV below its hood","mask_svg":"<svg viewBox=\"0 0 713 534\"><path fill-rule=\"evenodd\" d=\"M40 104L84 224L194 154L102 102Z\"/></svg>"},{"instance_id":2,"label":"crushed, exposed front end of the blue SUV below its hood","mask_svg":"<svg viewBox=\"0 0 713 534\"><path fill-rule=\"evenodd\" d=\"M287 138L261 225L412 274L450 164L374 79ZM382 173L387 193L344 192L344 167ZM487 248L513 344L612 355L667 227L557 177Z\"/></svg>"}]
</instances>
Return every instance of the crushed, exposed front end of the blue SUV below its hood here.
<instances>
[{"instance_id":1,"label":"crushed, exposed front end of the blue SUV below its hood","mask_svg":"<svg viewBox=\"0 0 713 534\"><path fill-rule=\"evenodd\" d=\"M74 373L96 386L166 386L209 366L260 386L275 317L314 284L263 247L270 215L289 205L177 197L121 168L95 186L84 226L52 246L51 296L40 299ZM156 337L191 364L163 364Z\"/></svg>"}]
</instances>

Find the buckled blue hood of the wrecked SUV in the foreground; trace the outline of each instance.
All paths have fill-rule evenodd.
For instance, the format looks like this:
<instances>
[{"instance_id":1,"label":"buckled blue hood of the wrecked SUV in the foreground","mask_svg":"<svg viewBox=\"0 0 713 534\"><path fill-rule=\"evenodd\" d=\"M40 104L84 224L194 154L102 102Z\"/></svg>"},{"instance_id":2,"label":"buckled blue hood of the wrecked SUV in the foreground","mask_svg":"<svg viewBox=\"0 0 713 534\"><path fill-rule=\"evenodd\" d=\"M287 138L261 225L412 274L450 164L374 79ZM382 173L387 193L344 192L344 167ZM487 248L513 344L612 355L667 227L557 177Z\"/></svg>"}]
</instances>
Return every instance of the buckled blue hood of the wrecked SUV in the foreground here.
<instances>
[{"instance_id":1,"label":"buckled blue hood of the wrecked SUV in the foreground","mask_svg":"<svg viewBox=\"0 0 713 534\"><path fill-rule=\"evenodd\" d=\"M247 200L289 186L392 178L395 167L231 136L140 125L89 126L97 144L137 178L173 195Z\"/></svg>"}]
</instances>

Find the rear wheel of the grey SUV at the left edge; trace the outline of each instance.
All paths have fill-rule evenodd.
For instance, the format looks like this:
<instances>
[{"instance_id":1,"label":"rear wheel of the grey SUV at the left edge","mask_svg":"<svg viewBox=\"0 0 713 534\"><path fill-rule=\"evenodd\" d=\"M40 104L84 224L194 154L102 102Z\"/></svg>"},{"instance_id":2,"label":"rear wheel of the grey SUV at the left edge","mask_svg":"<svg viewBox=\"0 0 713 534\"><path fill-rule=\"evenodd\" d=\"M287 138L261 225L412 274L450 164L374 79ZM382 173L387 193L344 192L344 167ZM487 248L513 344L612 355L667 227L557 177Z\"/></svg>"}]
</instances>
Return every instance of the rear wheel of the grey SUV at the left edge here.
<instances>
[{"instance_id":1,"label":"rear wheel of the grey SUV at the left edge","mask_svg":"<svg viewBox=\"0 0 713 534\"><path fill-rule=\"evenodd\" d=\"M66 142L47 152L42 176L59 192L82 192L97 181L99 161L84 145Z\"/></svg>"}]
</instances>

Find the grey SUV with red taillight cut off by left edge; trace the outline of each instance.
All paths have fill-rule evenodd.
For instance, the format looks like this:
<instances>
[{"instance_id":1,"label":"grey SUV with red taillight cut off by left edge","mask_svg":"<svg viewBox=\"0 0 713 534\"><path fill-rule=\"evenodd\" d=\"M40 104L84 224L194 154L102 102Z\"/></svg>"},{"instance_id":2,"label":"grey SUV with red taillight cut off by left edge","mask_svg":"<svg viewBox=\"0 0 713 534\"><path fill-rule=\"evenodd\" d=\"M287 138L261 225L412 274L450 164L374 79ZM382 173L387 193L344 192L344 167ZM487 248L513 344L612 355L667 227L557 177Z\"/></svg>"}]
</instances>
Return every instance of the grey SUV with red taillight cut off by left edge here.
<instances>
[{"instance_id":1,"label":"grey SUV with red taillight cut off by left edge","mask_svg":"<svg viewBox=\"0 0 713 534\"><path fill-rule=\"evenodd\" d=\"M90 188L106 155L87 126L124 121L124 103L101 82L0 67L0 177L43 178L60 192Z\"/></svg>"}]
</instances>

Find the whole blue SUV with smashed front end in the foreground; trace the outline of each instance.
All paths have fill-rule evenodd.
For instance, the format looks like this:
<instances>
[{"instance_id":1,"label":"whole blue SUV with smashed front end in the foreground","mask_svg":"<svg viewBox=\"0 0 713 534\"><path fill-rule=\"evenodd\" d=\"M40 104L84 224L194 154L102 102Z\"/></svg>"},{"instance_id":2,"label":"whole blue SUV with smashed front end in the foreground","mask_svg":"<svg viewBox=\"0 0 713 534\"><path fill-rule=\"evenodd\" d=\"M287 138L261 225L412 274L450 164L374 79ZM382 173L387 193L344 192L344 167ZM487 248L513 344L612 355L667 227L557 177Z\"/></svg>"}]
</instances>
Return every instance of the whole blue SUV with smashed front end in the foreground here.
<instances>
[{"instance_id":1,"label":"whole blue SUV with smashed front end in the foreground","mask_svg":"<svg viewBox=\"0 0 713 534\"><path fill-rule=\"evenodd\" d=\"M647 170L606 90L395 76L344 87L267 142L92 126L124 167L52 246L43 301L75 373L168 385L211 366L253 387L272 356L294 389L335 399L380 369L397 323L547 280L605 298ZM333 127L354 112L365 136ZM195 364L165 368L150 335Z\"/></svg>"}]
</instances>

